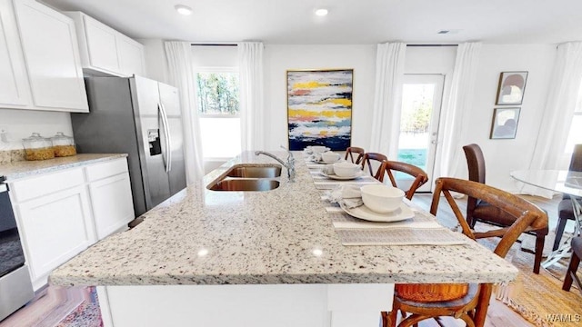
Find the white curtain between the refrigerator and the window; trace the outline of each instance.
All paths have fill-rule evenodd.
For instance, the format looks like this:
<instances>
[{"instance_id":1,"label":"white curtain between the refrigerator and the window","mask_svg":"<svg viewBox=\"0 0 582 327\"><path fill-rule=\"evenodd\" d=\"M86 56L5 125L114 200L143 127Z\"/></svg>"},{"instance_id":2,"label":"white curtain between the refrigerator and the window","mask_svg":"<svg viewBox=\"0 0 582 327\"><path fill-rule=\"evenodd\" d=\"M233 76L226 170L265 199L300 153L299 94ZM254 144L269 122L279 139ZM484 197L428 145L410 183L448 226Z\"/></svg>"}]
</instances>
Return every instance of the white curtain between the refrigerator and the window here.
<instances>
[{"instance_id":1,"label":"white curtain between the refrigerator and the window","mask_svg":"<svg viewBox=\"0 0 582 327\"><path fill-rule=\"evenodd\" d=\"M192 47L187 42L165 42L170 83L180 94L184 129L184 156L186 183L191 184L204 176L204 159L200 143L200 124L196 108L196 83L192 69Z\"/></svg>"}]
</instances>

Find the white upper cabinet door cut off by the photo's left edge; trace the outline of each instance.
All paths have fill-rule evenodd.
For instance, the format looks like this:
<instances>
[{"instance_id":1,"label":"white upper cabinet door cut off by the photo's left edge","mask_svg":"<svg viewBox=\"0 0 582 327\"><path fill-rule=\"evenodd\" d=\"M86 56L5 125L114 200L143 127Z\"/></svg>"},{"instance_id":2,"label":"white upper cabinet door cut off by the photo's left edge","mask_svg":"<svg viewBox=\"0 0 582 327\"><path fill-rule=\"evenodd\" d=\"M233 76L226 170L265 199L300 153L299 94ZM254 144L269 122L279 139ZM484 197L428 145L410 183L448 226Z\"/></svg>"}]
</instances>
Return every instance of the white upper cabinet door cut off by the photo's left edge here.
<instances>
[{"instance_id":1,"label":"white upper cabinet door cut off by the photo's left edge","mask_svg":"<svg viewBox=\"0 0 582 327\"><path fill-rule=\"evenodd\" d=\"M0 0L0 104L31 104L29 87L12 1Z\"/></svg>"}]
</instances>

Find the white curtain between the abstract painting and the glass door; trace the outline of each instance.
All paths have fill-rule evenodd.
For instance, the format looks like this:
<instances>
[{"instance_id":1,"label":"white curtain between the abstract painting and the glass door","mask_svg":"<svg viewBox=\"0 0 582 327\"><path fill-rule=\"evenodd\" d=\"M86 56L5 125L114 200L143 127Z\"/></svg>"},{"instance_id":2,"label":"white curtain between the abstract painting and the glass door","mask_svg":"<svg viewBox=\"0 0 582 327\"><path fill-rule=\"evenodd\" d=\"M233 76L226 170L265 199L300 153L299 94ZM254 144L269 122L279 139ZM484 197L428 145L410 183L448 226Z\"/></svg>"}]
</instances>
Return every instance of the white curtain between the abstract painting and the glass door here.
<instances>
[{"instance_id":1,"label":"white curtain between the abstract painting and the glass door","mask_svg":"<svg viewBox=\"0 0 582 327\"><path fill-rule=\"evenodd\" d=\"M370 152L386 154L392 160L398 157L405 57L404 43L377 45Z\"/></svg>"}]
</instances>

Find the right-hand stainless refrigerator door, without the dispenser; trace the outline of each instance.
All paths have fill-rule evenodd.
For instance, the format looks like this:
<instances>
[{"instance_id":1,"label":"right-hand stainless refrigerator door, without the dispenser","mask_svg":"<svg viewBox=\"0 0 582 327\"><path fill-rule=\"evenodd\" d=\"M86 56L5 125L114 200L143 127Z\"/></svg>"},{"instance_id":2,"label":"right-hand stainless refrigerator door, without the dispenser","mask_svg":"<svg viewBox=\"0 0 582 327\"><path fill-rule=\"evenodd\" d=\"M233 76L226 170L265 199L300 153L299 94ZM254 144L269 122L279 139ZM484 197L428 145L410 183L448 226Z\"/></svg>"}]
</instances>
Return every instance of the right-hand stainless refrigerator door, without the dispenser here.
<instances>
[{"instance_id":1,"label":"right-hand stainless refrigerator door, without the dispenser","mask_svg":"<svg viewBox=\"0 0 582 327\"><path fill-rule=\"evenodd\" d=\"M184 133L178 90L174 86L159 84L160 103L167 114L170 134L170 194L186 188L186 166L184 162Z\"/></svg>"}]
</instances>

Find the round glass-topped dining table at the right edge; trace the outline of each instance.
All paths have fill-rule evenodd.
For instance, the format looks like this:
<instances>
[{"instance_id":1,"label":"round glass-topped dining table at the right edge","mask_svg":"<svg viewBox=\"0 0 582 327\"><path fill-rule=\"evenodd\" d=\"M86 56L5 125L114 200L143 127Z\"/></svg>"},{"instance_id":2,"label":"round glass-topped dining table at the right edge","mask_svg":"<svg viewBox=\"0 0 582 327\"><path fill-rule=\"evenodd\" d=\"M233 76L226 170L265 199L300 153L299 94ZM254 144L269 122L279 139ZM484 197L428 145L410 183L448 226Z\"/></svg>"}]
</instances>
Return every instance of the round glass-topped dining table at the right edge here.
<instances>
[{"instance_id":1,"label":"round glass-topped dining table at the right edge","mask_svg":"<svg viewBox=\"0 0 582 327\"><path fill-rule=\"evenodd\" d=\"M574 234L582 232L582 172L567 170L517 170L510 173L519 182L533 185L548 191L570 196L574 210ZM543 268L558 264L560 259L571 253L571 237L563 241L557 250L547 256L541 263Z\"/></svg>"}]
</instances>

